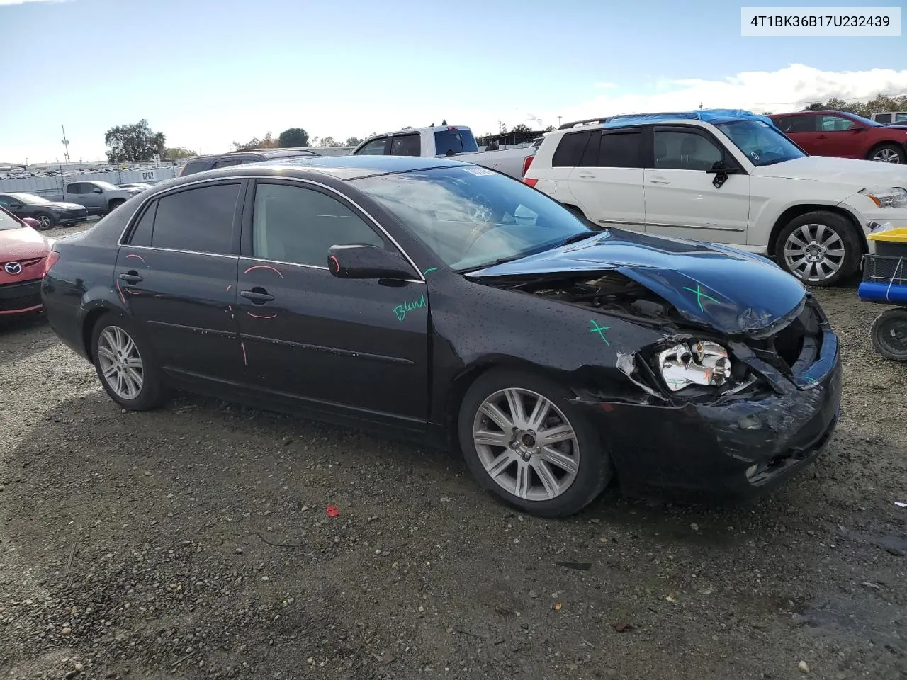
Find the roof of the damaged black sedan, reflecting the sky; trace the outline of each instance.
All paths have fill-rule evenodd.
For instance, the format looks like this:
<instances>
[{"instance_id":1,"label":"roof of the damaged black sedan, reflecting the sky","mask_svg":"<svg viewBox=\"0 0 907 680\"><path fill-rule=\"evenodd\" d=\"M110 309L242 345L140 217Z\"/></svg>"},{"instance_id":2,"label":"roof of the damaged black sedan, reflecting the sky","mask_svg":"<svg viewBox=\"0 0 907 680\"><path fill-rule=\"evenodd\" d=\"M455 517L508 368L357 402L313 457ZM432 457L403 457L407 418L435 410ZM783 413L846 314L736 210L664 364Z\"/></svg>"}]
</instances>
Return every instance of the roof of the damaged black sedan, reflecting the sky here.
<instances>
[{"instance_id":1,"label":"roof of the damaged black sedan, reflecting the sky","mask_svg":"<svg viewBox=\"0 0 907 680\"><path fill-rule=\"evenodd\" d=\"M388 175L414 170L432 170L435 168L468 168L471 163L461 160L443 158L423 158L420 156L297 156L287 159L260 160L257 163L231 165L227 168L205 170L186 175L187 183L215 177L232 177L248 175L255 170L262 175L285 175L312 179L317 175L327 175L337 180L356 180L375 175ZM181 182L180 182L181 183ZM169 187L178 186L168 184Z\"/></svg>"}]
</instances>

